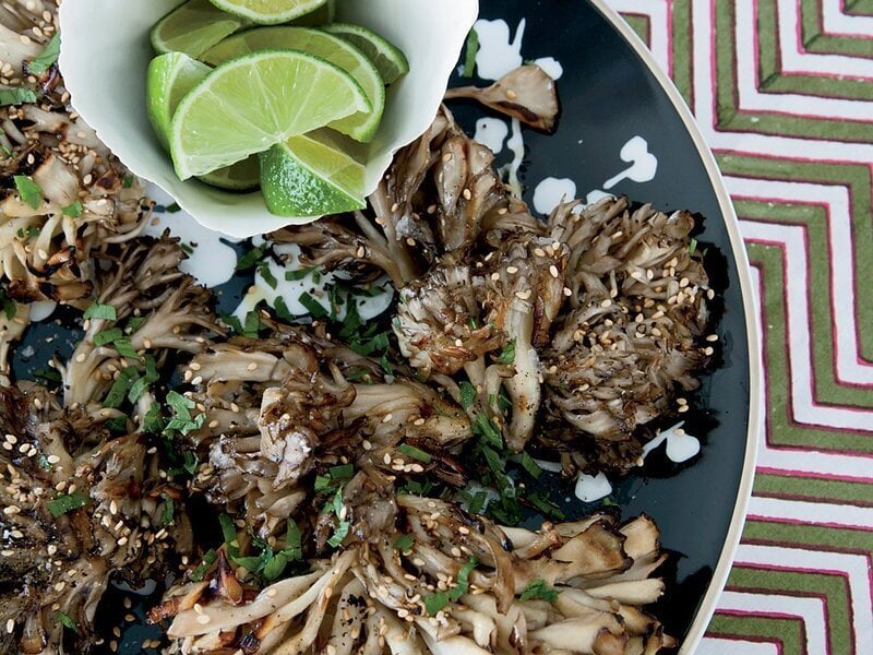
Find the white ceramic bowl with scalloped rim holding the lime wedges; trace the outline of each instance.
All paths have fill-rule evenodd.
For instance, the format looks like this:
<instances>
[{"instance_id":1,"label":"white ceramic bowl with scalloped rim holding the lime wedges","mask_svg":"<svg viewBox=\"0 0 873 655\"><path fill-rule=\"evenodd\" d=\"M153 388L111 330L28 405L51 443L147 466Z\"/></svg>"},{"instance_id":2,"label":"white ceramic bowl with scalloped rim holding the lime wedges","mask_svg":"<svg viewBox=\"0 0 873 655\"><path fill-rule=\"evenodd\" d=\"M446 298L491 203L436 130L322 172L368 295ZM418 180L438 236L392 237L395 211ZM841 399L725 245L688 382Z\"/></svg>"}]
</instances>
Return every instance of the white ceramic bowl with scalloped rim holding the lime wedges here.
<instances>
[{"instance_id":1,"label":"white ceramic bowl with scalloped rim holding the lime wedges","mask_svg":"<svg viewBox=\"0 0 873 655\"><path fill-rule=\"evenodd\" d=\"M260 192L229 193L176 177L146 117L145 73L154 57L150 28L180 3L61 4L60 68L73 107L134 174L164 189L205 227L244 238L314 221L274 216ZM478 0L338 0L338 22L369 27L409 60L409 73L388 88L382 127L370 144L367 194L375 190L394 153L430 126L478 13Z\"/></svg>"}]
</instances>

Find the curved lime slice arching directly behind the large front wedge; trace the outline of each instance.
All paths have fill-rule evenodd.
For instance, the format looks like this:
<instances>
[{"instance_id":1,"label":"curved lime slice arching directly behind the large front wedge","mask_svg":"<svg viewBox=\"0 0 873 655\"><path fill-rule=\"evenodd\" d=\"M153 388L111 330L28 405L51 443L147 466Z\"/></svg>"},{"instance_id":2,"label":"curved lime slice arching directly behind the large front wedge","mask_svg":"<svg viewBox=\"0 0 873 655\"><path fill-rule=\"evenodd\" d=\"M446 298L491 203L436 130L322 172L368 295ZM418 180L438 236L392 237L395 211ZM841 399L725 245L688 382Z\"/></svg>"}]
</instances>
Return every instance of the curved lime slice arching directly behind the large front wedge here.
<instances>
[{"instance_id":1,"label":"curved lime slice arching directly behind the large front wedge","mask_svg":"<svg viewBox=\"0 0 873 655\"><path fill-rule=\"evenodd\" d=\"M367 56L338 36L312 27L258 27L226 38L204 52L202 59L218 66L248 52L285 49L321 57L355 78L367 94L371 110L334 121L331 127L357 141L372 141L385 108L385 83Z\"/></svg>"}]
</instances>

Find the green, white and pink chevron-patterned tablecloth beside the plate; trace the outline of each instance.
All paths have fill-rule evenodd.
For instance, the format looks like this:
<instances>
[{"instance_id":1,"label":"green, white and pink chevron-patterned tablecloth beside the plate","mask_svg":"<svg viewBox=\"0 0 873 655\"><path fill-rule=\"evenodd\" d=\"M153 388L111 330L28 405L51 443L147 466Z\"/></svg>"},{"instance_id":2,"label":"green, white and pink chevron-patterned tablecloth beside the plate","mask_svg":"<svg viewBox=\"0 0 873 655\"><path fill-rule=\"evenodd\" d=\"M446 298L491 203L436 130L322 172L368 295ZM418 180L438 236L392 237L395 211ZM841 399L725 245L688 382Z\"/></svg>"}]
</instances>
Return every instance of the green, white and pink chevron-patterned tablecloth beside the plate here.
<instances>
[{"instance_id":1,"label":"green, white and pink chevron-patterned tablecloth beside the plate","mask_svg":"<svg viewBox=\"0 0 873 655\"><path fill-rule=\"evenodd\" d=\"M754 492L697 653L873 653L873 0L609 4L696 116L758 293Z\"/></svg>"}]
</instances>

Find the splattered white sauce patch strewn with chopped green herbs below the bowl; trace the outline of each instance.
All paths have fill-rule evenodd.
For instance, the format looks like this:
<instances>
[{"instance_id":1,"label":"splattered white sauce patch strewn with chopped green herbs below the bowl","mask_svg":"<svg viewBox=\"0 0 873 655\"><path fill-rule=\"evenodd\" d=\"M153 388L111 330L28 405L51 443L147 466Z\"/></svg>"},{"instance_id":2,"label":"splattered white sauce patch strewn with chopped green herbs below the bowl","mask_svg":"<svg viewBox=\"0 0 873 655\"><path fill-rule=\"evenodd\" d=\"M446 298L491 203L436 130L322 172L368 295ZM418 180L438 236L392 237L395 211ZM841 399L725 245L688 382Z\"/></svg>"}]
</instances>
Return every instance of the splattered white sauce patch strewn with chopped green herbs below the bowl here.
<instances>
[{"instance_id":1,"label":"splattered white sauce patch strewn with chopped green herbs below the bowl","mask_svg":"<svg viewBox=\"0 0 873 655\"><path fill-rule=\"evenodd\" d=\"M264 239L256 237L252 241L256 247L262 245ZM273 251L283 260L283 263L276 262L273 258L266 258L265 260L270 273L276 278L276 288L273 288L264 278L259 266L255 269L254 284L234 311L234 315L243 321L246 315L258 307L259 302L264 301L275 309L276 299L282 298L292 315L303 317L309 314L309 310L300 302L300 296L303 293L312 296L325 310L330 310L327 287L334 282L344 278L337 273L320 271L318 282L315 282L312 273L301 279L286 279L286 273L299 271L303 267L300 263L300 247L295 243L277 243L273 247ZM383 313L391 306L391 301L394 298L394 287L387 277L378 279L373 286L383 289L383 293L376 296L354 297L358 306L358 313L364 321L374 319ZM344 303L337 310L337 320L345 319L346 313L347 306Z\"/></svg>"}]
</instances>

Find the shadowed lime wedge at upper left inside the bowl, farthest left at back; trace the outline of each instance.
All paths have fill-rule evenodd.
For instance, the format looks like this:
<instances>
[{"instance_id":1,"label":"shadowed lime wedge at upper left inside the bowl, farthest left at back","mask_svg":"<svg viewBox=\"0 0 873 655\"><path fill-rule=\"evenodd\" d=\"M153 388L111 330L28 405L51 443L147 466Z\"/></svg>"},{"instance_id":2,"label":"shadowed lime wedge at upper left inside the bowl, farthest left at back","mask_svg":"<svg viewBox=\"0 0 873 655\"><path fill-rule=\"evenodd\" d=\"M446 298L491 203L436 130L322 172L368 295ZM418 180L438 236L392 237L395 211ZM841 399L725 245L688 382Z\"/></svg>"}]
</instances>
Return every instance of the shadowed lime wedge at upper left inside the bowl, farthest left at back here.
<instances>
[{"instance_id":1,"label":"shadowed lime wedge at upper left inside the bowl, farthest left at back","mask_svg":"<svg viewBox=\"0 0 873 655\"><path fill-rule=\"evenodd\" d=\"M249 21L224 13L208 0L189 0L155 23L152 47L159 55L184 52L199 57L248 24Z\"/></svg>"}]
</instances>

